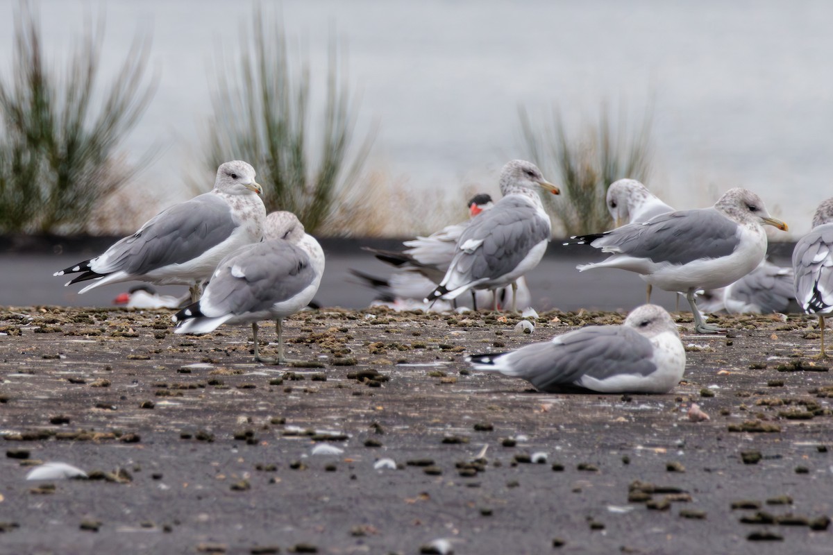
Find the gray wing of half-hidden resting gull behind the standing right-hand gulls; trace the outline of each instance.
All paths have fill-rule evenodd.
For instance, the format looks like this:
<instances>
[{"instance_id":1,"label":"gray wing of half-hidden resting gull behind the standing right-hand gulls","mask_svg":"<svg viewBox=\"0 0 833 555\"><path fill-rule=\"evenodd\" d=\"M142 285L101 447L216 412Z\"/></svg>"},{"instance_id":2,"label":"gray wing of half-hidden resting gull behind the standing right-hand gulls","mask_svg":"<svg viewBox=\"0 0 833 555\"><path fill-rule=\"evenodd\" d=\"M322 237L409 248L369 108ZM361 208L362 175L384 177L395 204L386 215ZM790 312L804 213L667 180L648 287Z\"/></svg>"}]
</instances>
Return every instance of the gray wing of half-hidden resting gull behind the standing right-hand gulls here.
<instances>
[{"instance_id":1,"label":"gray wing of half-hidden resting gull behind the standing right-hand gulls","mask_svg":"<svg viewBox=\"0 0 833 555\"><path fill-rule=\"evenodd\" d=\"M795 299L793 272L765 262L729 285L727 295L747 306L756 306L761 314L784 312Z\"/></svg>"}]
</instances>

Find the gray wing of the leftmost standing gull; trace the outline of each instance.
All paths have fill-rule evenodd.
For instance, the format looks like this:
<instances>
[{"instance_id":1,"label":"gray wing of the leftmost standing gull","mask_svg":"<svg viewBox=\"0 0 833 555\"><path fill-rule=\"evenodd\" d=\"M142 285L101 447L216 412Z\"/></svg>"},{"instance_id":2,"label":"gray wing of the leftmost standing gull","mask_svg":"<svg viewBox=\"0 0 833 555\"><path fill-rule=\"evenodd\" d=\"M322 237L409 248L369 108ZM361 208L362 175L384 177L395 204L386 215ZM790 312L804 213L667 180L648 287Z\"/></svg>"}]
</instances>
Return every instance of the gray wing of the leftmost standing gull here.
<instances>
[{"instance_id":1,"label":"gray wing of the leftmost standing gull","mask_svg":"<svg viewBox=\"0 0 833 555\"><path fill-rule=\"evenodd\" d=\"M92 262L97 273L117 270L143 275L197 258L226 240L237 227L231 207L212 193L160 212L135 234L112 245Z\"/></svg>"}]
</instances>

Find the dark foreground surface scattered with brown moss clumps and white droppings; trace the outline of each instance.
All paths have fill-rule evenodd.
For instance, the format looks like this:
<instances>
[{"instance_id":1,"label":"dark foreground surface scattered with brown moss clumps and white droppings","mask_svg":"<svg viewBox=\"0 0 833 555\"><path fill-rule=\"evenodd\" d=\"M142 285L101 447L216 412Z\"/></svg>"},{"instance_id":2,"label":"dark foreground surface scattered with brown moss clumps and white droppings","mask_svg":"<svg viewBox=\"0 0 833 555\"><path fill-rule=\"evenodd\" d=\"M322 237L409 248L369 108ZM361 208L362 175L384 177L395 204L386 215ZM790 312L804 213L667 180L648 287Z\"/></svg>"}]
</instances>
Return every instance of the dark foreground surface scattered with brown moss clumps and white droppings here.
<instances>
[{"instance_id":1,"label":"dark foreground surface scattered with brown moss clumps and white droppings","mask_svg":"<svg viewBox=\"0 0 833 555\"><path fill-rule=\"evenodd\" d=\"M160 333L167 311L0 309L3 548L829 547L833 377L804 358L818 350L804 337L814 317L719 317L729 345L674 315L703 348L664 395L541 394L461 371L466 354L624 320L530 317L534 337L486 312L304 312L285 325L287 356L304 361L290 367L252 363L248 327L183 338ZM271 356L273 325L259 339ZM710 418L692 420L694 404ZM88 479L26 481L62 460Z\"/></svg>"}]
</instances>

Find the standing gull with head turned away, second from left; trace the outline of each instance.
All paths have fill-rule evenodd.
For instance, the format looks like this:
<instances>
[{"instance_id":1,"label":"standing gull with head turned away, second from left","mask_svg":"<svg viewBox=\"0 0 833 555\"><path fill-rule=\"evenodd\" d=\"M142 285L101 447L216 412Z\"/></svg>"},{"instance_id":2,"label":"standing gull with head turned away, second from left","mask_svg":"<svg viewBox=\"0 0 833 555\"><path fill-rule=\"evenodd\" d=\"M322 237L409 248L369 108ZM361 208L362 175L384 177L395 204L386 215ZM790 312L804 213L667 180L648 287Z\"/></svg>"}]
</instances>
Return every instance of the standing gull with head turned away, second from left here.
<instances>
[{"instance_id":1,"label":"standing gull with head turned away, second from left","mask_svg":"<svg viewBox=\"0 0 833 555\"><path fill-rule=\"evenodd\" d=\"M228 255L205 295L173 316L177 334L206 334L222 324L252 324L257 362L286 362L282 321L309 304L324 273L324 251L292 212L267 216L266 240ZM262 359L257 322L275 320L277 359Z\"/></svg>"}]
</instances>

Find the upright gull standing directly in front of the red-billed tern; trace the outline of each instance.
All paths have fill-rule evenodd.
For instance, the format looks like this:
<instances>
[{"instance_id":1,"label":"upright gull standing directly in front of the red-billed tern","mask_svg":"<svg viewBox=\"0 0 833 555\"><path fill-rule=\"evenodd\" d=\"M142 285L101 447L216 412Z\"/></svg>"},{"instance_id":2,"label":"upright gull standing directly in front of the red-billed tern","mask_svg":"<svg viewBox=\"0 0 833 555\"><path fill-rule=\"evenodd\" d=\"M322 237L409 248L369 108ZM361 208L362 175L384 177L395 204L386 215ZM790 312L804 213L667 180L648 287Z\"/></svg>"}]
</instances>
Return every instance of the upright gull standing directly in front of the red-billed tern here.
<instances>
[{"instance_id":1,"label":"upright gull standing directly in front of the red-billed tern","mask_svg":"<svg viewBox=\"0 0 833 555\"><path fill-rule=\"evenodd\" d=\"M503 166L503 198L477 216L457 240L454 258L430 300L454 300L468 290L512 286L512 312L517 310L516 280L534 268L550 240L550 217L538 190L554 195L558 187L544 179L535 164L513 160ZM494 297L497 310L497 295Z\"/></svg>"}]
</instances>

